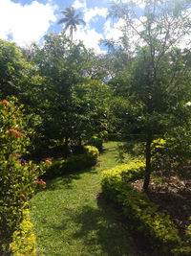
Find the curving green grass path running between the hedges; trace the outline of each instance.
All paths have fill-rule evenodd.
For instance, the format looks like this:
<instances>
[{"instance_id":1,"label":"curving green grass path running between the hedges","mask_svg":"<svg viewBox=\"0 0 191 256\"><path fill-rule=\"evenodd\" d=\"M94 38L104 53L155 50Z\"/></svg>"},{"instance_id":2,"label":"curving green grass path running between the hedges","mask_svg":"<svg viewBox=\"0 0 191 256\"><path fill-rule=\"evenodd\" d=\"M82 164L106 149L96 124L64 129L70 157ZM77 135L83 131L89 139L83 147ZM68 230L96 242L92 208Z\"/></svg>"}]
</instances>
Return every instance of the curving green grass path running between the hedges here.
<instances>
[{"instance_id":1,"label":"curving green grass path running between the hedges","mask_svg":"<svg viewBox=\"0 0 191 256\"><path fill-rule=\"evenodd\" d=\"M138 255L111 205L97 198L101 172L117 165L116 147L105 143L96 167L55 178L32 199L38 255Z\"/></svg>"}]
</instances>

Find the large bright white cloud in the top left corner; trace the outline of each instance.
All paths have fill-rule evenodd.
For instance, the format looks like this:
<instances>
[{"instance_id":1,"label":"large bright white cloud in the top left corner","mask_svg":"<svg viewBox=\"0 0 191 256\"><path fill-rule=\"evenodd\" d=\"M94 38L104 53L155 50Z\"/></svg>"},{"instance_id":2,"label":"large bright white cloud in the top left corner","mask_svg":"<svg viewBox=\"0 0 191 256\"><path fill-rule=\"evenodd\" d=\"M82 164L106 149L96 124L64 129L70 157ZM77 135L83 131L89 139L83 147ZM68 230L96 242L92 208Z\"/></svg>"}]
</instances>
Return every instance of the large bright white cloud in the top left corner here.
<instances>
[{"instance_id":1,"label":"large bright white cloud in the top left corner","mask_svg":"<svg viewBox=\"0 0 191 256\"><path fill-rule=\"evenodd\" d=\"M33 1L30 5L16 4L11 0L0 1L0 37L12 40L20 46L38 42L56 20L51 3Z\"/></svg>"}]
</instances>

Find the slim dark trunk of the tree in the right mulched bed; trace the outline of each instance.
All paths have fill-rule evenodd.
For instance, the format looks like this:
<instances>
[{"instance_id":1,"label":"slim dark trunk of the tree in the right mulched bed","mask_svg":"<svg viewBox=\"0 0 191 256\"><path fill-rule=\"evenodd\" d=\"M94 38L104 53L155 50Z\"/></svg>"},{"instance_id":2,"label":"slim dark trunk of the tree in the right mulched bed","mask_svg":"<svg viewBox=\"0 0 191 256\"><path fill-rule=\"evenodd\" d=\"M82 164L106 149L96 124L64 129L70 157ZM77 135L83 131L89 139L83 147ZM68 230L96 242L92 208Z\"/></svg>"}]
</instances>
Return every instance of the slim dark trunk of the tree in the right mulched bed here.
<instances>
[{"instance_id":1,"label":"slim dark trunk of the tree in the right mulched bed","mask_svg":"<svg viewBox=\"0 0 191 256\"><path fill-rule=\"evenodd\" d=\"M150 175L151 175L151 143L152 143L152 132L149 129L147 132L147 139L146 139L146 170L144 176L144 184L143 190L144 192L148 191L148 186L150 182Z\"/></svg>"}]
</instances>

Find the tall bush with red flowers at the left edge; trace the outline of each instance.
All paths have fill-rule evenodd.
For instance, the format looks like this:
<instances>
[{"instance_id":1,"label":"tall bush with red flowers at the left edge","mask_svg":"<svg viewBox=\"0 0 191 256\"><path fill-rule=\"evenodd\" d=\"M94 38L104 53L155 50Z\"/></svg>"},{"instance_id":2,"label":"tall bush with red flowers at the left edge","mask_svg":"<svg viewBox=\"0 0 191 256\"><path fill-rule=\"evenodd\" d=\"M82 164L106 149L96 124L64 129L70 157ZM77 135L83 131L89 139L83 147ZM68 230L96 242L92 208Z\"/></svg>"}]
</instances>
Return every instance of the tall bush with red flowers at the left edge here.
<instances>
[{"instance_id":1,"label":"tall bush with red flowers at the left edge","mask_svg":"<svg viewBox=\"0 0 191 256\"><path fill-rule=\"evenodd\" d=\"M29 145L22 106L15 99L0 103L0 254L9 251L13 232L23 219L42 169L20 159Z\"/></svg>"}]
</instances>

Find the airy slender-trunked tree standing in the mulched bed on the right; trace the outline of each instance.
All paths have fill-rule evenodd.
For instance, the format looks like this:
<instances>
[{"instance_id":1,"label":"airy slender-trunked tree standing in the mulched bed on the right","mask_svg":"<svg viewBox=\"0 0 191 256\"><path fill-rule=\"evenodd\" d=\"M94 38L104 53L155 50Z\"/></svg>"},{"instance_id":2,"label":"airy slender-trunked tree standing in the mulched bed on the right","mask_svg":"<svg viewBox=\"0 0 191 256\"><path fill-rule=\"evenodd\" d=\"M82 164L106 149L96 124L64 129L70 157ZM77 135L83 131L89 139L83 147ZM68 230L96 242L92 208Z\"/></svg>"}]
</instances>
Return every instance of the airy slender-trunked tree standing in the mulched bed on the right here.
<instances>
[{"instance_id":1,"label":"airy slender-trunked tree standing in the mulched bed on the right","mask_svg":"<svg viewBox=\"0 0 191 256\"><path fill-rule=\"evenodd\" d=\"M190 35L190 1L145 0L144 10L136 1L112 6L110 15L123 20L123 32L133 45L136 35L135 61L126 84L128 99L139 105L139 120L145 135L146 170L144 191L147 191L151 167L151 144L156 135L186 123L187 115L179 115L189 101L190 64L184 56L189 50L176 47L183 36Z\"/></svg>"}]
</instances>

